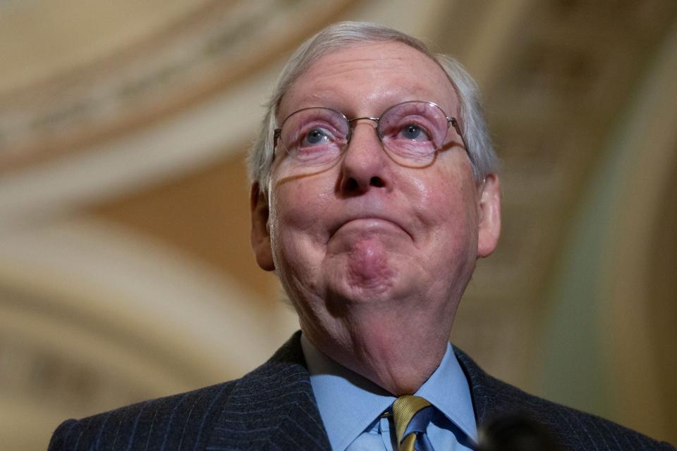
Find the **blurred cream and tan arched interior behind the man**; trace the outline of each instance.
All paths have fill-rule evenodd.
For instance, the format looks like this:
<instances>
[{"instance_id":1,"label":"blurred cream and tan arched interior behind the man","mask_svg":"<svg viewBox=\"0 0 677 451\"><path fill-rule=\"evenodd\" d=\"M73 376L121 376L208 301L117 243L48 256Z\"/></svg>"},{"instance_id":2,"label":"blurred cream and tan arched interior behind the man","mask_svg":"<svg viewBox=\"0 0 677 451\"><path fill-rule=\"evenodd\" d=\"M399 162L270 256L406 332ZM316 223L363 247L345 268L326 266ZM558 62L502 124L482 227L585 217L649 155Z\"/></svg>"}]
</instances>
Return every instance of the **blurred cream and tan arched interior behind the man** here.
<instances>
[{"instance_id":1,"label":"blurred cream and tan arched interior behind the man","mask_svg":"<svg viewBox=\"0 0 677 451\"><path fill-rule=\"evenodd\" d=\"M235 378L298 327L243 160L291 49L372 20L458 57L504 233L453 341L677 443L677 1L0 0L0 447Z\"/></svg>"}]
</instances>

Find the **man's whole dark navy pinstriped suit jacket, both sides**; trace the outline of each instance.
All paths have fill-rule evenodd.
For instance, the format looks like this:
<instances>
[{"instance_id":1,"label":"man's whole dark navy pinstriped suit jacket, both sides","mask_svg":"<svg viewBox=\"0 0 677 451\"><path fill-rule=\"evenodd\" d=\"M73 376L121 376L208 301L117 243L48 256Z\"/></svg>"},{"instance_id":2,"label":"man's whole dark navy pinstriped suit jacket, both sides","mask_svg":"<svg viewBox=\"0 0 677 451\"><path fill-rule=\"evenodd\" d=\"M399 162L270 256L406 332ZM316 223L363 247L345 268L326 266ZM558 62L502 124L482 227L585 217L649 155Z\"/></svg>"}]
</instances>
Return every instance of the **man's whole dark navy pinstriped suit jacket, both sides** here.
<instances>
[{"instance_id":1,"label":"man's whole dark navy pinstriped suit jacket, both sides","mask_svg":"<svg viewBox=\"0 0 677 451\"><path fill-rule=\"evenodd\" d=\"M236 381L122 407L56 429L57 450L329 450L295 333L265 364ZM563 450L675 450L597 416L528 395L484 373L456 350L478 424L522 413Z\"/></svg>"}]
</instances>

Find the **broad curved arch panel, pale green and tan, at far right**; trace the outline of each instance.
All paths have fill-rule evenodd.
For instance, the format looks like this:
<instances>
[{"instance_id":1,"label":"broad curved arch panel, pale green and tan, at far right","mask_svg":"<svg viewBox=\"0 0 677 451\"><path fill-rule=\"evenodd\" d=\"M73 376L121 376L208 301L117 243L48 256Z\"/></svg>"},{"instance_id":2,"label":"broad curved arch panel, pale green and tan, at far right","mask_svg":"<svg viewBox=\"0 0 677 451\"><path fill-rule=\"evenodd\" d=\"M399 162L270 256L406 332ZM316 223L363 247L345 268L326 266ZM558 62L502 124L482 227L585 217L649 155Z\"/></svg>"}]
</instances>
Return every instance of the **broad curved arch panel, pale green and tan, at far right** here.
<instances>
[{"instance_id":1,"label":"broad curved arch panel, pale green and tan, at far right","mask_svg":"<svg viewBox=\"0 0 677 451\"><path fill-rule=\"evenodd\" d=\"M628 92L571 221L547 314L542 391L642 433L670 439L650 297L652 237L677 163L677 22ZM660 356L673 359L672 356Z\"/></svg>"}]
</instances>

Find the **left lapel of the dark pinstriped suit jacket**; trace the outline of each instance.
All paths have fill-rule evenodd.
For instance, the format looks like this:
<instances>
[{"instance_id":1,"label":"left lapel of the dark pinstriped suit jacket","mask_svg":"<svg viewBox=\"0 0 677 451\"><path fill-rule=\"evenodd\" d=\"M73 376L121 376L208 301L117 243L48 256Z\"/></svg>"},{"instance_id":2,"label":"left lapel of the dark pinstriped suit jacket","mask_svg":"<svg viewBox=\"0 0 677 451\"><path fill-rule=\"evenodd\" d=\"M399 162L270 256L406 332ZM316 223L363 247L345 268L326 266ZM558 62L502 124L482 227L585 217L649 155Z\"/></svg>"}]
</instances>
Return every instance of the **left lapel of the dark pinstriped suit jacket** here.
<instances>
[{"instance_id":1,"label":"left lapel of the dark pinstriped suit jacket","mask_svg":"<svg viewBox=\"0 0 677 451\"><path fill-rule=\"evenodd\" d=\"M330 449L301 351L300 332L268 362L238 381L207 449Z\"/></svg>"}]
</instances>

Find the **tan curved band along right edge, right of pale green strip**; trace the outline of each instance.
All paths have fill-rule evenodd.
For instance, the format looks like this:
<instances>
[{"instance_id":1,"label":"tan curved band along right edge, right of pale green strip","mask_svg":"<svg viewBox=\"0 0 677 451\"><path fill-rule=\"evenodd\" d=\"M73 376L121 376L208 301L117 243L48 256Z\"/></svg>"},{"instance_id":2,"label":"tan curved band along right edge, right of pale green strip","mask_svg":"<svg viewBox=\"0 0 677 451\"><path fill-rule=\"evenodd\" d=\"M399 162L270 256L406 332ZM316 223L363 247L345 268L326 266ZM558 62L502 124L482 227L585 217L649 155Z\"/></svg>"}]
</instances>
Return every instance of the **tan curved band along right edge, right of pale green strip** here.
<instances>
[{"instance_id":1,"label":"tan curved band along right edge, right of pale green strip","mask_svg":"<svg viewBox=\"0 0 677 451\"><path fill-rule=\"evenodd\" d=\"M665 412L674 409L674 402L661 399L656 359L675 357L657 356L653 350L661 330L652 321L655 312L650 294L652 271L673 273L675 269L654 260L656 243L652 237L665 226L662 218L666 204L675 202L664 195L671 192L677 167L676 74L674 23L617 140L622 172L608 218L605 271L600 284L603 326L609 338L605 342L618 388L616 410L628 424L664 438L671 431Z\"/></svg>"}]
</instances>

